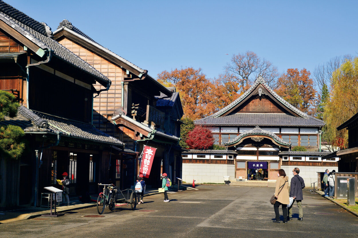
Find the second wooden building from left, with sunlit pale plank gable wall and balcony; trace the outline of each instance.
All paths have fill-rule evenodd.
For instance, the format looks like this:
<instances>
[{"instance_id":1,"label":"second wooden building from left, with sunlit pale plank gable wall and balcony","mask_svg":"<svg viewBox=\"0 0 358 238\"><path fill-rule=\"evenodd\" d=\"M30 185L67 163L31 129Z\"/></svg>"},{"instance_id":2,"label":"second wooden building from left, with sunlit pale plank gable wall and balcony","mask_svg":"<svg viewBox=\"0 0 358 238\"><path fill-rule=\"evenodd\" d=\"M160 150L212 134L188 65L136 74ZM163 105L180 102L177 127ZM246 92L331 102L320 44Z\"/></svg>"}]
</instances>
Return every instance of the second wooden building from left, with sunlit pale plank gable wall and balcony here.
<instances>
[{"instance_id":1,"label":"second wooden building from left, with sunlit pale plank gable wall and balcony","mask_svg":"<svg viewBox=\"0 0 358 238\"><path fill-rule=\"evenodd\" d=\"M158 83L147 70L100 45L66 19L53 37L112 81L108 90L101 84L95 85L97 91L102 91L93 99L96 128L120 139L139 155L145 144L158 148L152 169L154 175L146 183L158 186L163 163L164 171L171 178L180 176L178 142L183 109L179 94ZM162 105L163 100L170 103ZM121 160L121 172L127 176L118 178L117 185L133 185L139 164L137 159Z\"/></svg>"}]
</instances>

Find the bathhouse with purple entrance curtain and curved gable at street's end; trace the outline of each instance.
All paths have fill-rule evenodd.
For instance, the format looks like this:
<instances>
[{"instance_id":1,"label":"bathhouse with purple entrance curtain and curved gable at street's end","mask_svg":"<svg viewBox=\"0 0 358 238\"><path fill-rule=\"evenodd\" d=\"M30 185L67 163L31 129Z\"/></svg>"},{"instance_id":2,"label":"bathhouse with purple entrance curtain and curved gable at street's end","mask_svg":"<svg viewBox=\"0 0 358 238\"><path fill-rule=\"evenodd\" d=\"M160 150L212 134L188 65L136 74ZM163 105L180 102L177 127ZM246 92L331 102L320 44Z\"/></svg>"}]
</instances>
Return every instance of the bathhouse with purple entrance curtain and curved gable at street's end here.
<instances>
[{"instance_id":1,"label":"bathhouse with purple entrance curtain and curved gable at street's end","mask_svg":"<svg viewBox=\"0 0 358 238\"><path fill-rule=\"evenodd\" d=\"M230 175L231 181L247 180L252 174L257 174L257 170L262 172L259 177L263 180L275 181L278 169L285 169L289 174L291 167L295 166L302 168L300 175L309 185L311 179L316 181L315 172L325 166L337 170L335 161L323 164L326 163L321 160L324 152L313 155L314 151L320 150L320 130L325 123L289 104L277 95L261 76L231 104L194 123L211 128L214 144L237 152L234 164L229 164L229 161L218 162L219 160L210 162L234 167L234 174L227 174ZM296 146L303 146L308 150L300 154L300 159L290 151ZM192 160L189 164L191 163L197 163L202 172L207 168L206 164L200 161ZM183 168L189 164L184 163ZM307 170L310 173L306 174ZM215 174L212 168L211 171ZM191 172L183 170L183 174L191 175ZM185 176L183 178L185 179ZM200 181L200 175L194 175L194 179Z\"/></svg>"}]
</instances>

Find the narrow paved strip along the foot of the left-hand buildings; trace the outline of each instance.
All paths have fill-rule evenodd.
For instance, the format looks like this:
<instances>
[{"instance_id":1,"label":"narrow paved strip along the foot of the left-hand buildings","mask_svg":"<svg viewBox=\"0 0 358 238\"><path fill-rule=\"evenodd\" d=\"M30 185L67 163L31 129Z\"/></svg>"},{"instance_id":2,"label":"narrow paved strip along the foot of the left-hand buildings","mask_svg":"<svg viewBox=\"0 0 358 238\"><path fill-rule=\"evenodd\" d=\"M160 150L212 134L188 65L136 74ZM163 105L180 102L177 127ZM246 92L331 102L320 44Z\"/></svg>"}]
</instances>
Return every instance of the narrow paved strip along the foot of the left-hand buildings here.
<instances>
[{"instance_id":1,"label":"narrow paved strip along the foot of the left-hand buildings","mask_svg":"<svg viewBox=\"0 0 358 238\"><path fill-rule=\"evenodd\" d=\"M144 192L144 196L150 196L153 194L158 194L158 189L148 189ZM92 196L93 197L93 196ZM120 199L121 195L118 197ZM96 198L97 199L97 198ZM123 204L123 203L122 203ZM118 205L121 205L118 204ZM90 203L82 203L80 201L71 202L69 206L60 205L59 207L56 205L56 213L65 213L71 210L95 207L96 202ZM54 213L54 209L52 209ZM35 217L39 217L42 214L50 213L50 209L43 207L23 207L16 210L0 212L0 223L9 223L16 222L19 220L31 219Z\"/></svg>"}]
</instances>

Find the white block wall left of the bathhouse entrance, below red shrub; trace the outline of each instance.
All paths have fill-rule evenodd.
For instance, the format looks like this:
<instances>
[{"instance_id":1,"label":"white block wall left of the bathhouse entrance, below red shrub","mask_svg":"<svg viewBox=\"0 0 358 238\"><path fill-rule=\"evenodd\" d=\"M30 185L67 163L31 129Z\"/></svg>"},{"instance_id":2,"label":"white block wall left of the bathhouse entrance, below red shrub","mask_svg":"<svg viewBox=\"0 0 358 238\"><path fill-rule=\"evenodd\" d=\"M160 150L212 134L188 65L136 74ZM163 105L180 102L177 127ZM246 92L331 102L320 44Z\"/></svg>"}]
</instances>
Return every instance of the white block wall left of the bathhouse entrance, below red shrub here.
<instances>
[{"instance_id":1,"label":"white block wall left of the bathhouse entrance, below red shrub","mask_svg":"<svg viewBox=\"0 0 358 238\"><path fill-rule=\"evenodd\" d=\"M183 181L192 183L224 183L224 176L235 179L234 164L185 164L183 163Z\"/></svg>"}]
</instances>

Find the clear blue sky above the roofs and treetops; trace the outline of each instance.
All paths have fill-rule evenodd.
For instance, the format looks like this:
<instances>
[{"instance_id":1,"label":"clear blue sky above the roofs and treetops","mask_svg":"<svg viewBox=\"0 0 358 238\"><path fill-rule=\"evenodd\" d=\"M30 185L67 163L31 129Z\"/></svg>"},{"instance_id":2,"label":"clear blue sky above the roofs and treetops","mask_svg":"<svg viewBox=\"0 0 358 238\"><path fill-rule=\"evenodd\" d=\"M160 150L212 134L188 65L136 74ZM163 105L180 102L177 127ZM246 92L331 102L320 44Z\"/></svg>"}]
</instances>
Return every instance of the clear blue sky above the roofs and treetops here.
<instances>
[{"instance_id":1,"label":"clear blue sky above the roofs and treetops","mask_svg":"<svg viewBox=\"0 0 358 238\"><path fill-rule=\"evenodd\" d=\"M334 56L358 56L357 1L5 2L53 31L68 19L153 77L193 66L214 78L232 54L247 50L270 60L280 72L312 72Z\"/></svg>"}]
</instances>

